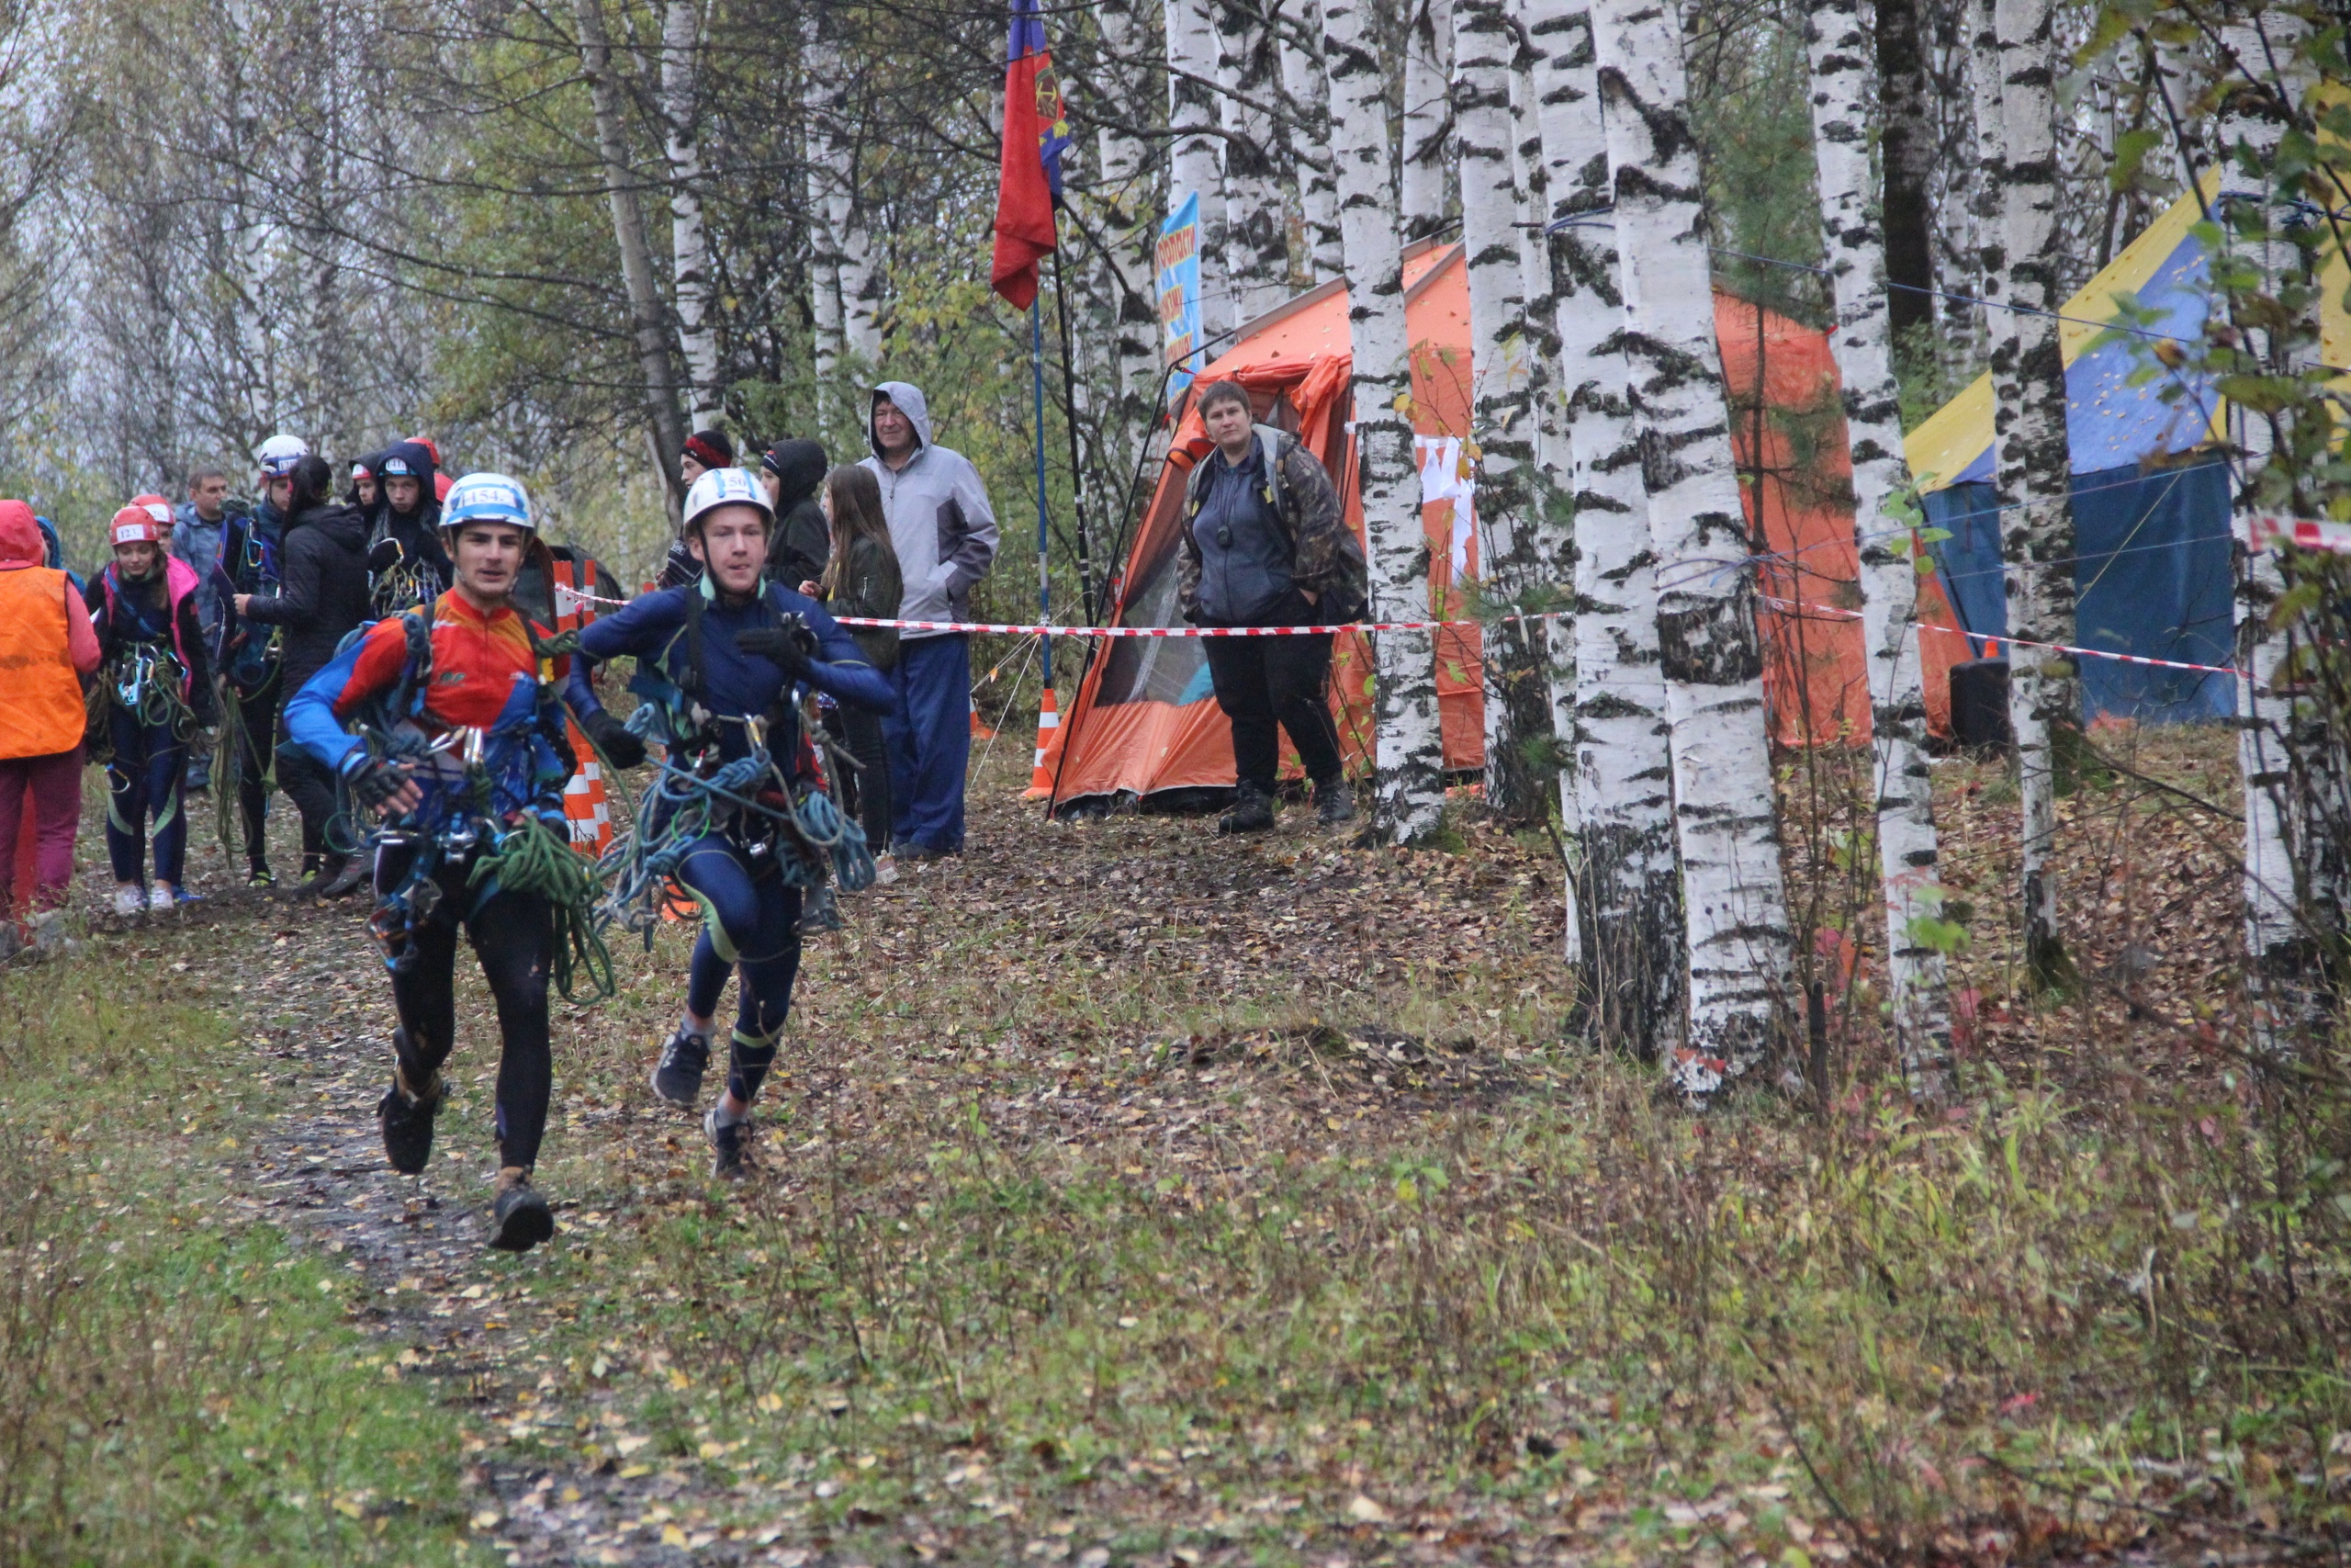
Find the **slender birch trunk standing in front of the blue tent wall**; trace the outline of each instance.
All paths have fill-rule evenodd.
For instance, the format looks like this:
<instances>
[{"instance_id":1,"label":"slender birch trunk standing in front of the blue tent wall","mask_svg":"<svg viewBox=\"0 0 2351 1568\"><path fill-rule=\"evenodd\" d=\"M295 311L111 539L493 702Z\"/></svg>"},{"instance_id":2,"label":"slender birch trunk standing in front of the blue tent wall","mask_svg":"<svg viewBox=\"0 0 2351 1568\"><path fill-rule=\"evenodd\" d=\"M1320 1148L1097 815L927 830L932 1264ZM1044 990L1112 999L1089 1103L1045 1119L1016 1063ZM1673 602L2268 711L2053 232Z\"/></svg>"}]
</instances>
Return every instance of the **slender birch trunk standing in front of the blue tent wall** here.
<instances>
[{"instance_id":1,"label":"slender birch trunk standing in front of the blue tent wall","mask_svg":"<svg viewBox=\"0 0 2351 1568\"><path fill-rule=\"evenodd\" d=\"M2001 494L2015 498L2001 555L2008 562L2008 635L2074 642L2074 463L2067 447L2064 357L2057 348L2057 132L2050 96L2050 0L1996 0L2001 45L2001 228L2008 247L2008 343L1994 355ZM2003 374L2005 371L2005 374ZM2003 383L2005 381L2005 383ZM2010 388L2015 388L2010 393ZM2064 654L2008 649L2008 724L2017 738L2024 806L2024 964L2036 985L2071 976L2057 926L2057 752L2081 724L2078 684Z\"/></svg>"}]
</instances>

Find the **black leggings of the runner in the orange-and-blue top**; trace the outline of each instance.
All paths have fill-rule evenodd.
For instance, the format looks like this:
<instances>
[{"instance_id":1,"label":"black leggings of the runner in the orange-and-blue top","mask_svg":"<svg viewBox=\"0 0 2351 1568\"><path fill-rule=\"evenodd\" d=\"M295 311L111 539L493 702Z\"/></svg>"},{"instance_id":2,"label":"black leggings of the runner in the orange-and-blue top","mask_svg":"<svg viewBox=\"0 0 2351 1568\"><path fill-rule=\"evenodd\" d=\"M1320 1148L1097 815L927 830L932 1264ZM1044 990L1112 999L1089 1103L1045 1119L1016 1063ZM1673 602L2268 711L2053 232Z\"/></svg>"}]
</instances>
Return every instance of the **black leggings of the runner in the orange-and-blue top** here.
<instances>
[{"instance_id":1,"label":"black leggings of the runner in the orange-and-blue top","mask_svg":"<svg viewBox=\"0 0 2351 1568\"><path fill-rule=\"evenodd\" d=\"M376 896L409 879L416 849L376 849ZM393 971L393 1009L400 1034L393 1048L409 1088L423 1088L456 1048L456 933L465 929L482 961L489 997L498 1004L498 1164L529 1168L548 1131L548 1093L555 1053L548 1044L548 964L555 957L555 917L548 900L524 893L491 893L475 907L477 889L465 886L470 860L444 863L433 877L440 903L409 940L414 959Z\"/></svg>"}]
</instances>

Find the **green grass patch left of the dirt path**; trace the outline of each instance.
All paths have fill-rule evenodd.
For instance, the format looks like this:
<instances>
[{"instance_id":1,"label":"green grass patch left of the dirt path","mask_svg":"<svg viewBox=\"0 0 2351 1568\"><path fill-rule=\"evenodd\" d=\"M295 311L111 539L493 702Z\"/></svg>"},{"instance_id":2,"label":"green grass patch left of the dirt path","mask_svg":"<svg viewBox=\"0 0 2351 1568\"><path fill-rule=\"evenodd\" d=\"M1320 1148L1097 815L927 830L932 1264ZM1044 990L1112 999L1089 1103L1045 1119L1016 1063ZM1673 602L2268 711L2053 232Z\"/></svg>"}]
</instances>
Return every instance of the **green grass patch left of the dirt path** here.
<instances>
[{"instance_id":1,"label":"green grass patch left of the dirt path","mask_svg":"<svg viewBox=\"0 0 2351 1568\"><path fill-rule=\"evenodd\" d=\"M0 1561L461 1561L454 1418L223 1204L247 1053L120 973L0 978Z\"/></svg>"}]
</instances>

